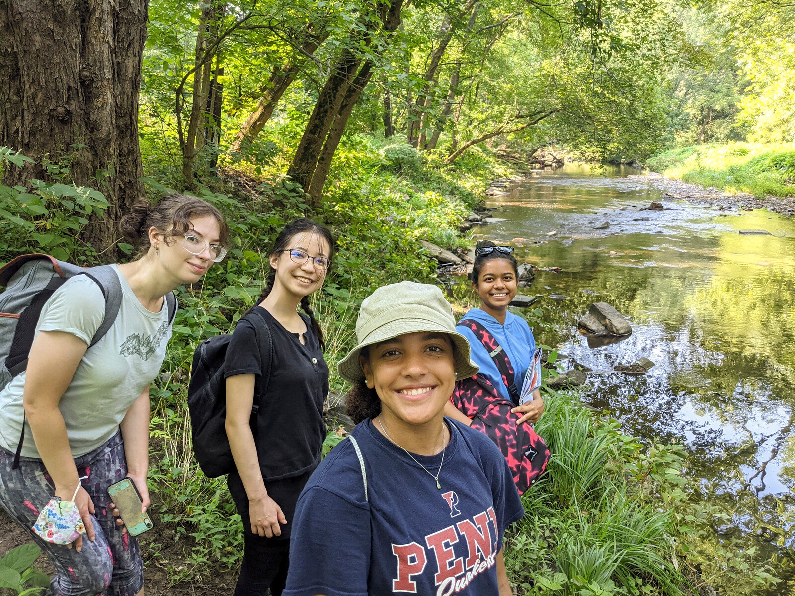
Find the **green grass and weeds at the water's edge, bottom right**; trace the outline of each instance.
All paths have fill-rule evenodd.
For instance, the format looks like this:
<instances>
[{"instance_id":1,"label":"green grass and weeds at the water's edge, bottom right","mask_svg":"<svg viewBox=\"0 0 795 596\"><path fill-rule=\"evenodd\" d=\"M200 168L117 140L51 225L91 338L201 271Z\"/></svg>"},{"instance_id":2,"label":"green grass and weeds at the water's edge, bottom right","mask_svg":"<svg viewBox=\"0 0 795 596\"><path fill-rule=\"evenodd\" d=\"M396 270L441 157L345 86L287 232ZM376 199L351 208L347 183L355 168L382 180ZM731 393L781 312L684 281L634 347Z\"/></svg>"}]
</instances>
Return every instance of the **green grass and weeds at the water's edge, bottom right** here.
<instances>
[{"instance_id":1,"label":"green grass and weeds at the water's edge, bottom right","mask_svg":"<svg viewBox=\"0 0 795 596\"><path fill-rule=\"evenodd\" d=\"M525 517L506 535L518 594L760 594L776 586L764 558L715 538L712 524L725 514L693 498L681 445L624 435L576 392L551 392L545 403L536 430L549 466L522 495Z\"/></svg>"}]
</instances>

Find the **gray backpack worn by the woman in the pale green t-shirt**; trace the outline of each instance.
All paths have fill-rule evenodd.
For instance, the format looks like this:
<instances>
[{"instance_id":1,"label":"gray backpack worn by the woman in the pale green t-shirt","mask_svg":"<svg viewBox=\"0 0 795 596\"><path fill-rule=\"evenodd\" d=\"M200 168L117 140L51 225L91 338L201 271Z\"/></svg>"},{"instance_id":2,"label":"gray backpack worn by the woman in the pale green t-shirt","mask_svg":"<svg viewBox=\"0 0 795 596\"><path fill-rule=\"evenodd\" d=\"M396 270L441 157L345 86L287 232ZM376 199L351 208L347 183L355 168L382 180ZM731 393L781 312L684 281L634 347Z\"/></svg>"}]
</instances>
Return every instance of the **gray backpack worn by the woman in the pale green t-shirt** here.
<instances>
[{"instance_id":1,"label":"gray backpack worn by the woman in the pale green t-shirt","mask_svg":"<svg viewBox=\"0 0 795 596\"><path fill-rule=\"evenodd\" d=\"M111 265L83 269L72 263L58 261L48 254L23 254L0 268L0 391L28 366L28 354L41 315L41 309L52 292L60 288L69 277L87 275L99 285L105 297L105 315L89 347L94 346L113 326L122 304L122 284ZM176 314L174 293L166 296L169 323ZM14 458L14 468L19 466L19 455L25 440L25 424Z\"/></svg>"}]
</instances>

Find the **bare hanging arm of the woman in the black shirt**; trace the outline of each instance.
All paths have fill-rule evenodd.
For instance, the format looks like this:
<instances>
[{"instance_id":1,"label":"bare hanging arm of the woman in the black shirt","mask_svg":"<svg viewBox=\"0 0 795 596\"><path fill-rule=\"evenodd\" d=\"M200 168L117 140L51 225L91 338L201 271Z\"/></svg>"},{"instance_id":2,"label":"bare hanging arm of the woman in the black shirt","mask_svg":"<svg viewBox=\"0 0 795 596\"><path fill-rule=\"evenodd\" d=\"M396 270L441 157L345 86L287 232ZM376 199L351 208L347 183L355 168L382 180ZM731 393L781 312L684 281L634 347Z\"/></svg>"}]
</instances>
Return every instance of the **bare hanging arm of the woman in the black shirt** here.
<instances>
[{"instance_id":1,"label":"bare hanging arm of the woman in the black shirt","mask_svg":"<svg viewBox=\"0 0 795 596\"><path fill-rule=\"evenodd\" d=\"M287 518L281 507L268 496L259 469L257 445L251 432L251 408L254 406L254 374L227 377L227 437L235 467L249 499L251 532L259 536L281 536L279 524Z\"/></svg>"}]
</instances>

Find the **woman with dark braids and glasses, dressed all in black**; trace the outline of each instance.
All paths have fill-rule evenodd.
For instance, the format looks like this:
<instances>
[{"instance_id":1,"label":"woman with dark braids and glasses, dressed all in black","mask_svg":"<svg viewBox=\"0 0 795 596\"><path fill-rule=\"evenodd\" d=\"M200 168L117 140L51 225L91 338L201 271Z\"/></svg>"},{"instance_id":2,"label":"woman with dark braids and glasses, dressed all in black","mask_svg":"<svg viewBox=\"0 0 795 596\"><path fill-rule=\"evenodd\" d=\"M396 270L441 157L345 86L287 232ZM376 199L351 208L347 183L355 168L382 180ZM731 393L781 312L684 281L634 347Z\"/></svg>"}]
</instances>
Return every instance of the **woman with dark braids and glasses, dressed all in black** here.
<instances>
[{"instance_id":1,"label":"woman with dark braids and glasses, dressed all in black","mask_svg":"<svg viewBox=\"0 0 795 596\"><path fill-rule=\"evenodd\" d=\"M309 308L332 264L335 242L325 226L297 219L268 253L270 275L258 305L238 321L227 349L227 435L237 470L227 483L243 519L245 553L235 596L278 596L287 579L290 521L318 463L328 395L324 339ZM297 312L298 305L306 315ZM270 331L262 354L258 328ZM254 390L270 377L251 428Z\"/></svg>"}]
</instances>

